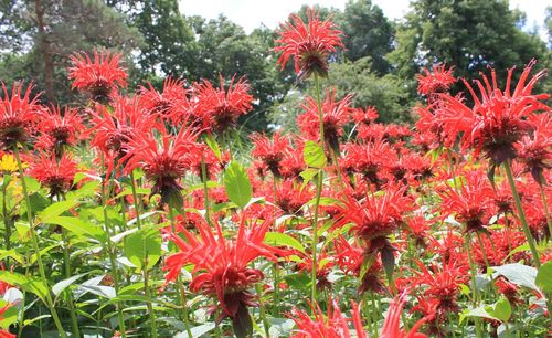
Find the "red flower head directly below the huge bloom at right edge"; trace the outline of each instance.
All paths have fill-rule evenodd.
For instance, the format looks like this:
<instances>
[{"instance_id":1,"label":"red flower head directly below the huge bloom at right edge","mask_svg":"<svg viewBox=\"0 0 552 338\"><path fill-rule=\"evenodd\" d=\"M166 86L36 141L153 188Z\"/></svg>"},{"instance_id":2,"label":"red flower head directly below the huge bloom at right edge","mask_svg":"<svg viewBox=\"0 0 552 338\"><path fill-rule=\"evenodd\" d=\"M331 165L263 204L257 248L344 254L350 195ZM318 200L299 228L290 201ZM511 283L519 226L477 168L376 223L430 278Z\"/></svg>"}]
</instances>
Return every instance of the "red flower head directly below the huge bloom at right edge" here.
<instances>
[{"instance_id":1,"label":"red flower head directly below the huge bloom at right edge","mask_svg":"<svg viewBox=\"0 0 552 338\"><path fill-rule=\"evenodd\" d=\"M464 223L466 232L486 229L492 209L493 190L482 175L468 176L461 187L449 187L439 194L443 216L456 214L456 220Z\"/></svg>"}]
</instances>

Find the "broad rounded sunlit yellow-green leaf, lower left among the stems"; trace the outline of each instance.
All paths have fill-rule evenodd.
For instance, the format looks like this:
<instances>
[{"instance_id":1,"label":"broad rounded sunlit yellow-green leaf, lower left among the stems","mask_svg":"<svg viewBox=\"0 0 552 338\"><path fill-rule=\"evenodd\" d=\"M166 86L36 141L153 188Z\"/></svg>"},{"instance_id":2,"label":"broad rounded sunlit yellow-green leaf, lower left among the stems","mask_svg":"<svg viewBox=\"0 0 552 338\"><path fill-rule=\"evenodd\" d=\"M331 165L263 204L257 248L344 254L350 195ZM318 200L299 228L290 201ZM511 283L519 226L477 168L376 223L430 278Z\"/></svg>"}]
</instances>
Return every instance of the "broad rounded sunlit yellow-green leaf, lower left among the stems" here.
<instances>
[{"instance_id":1,"label":"broad rounded sunlit yellow-green leaf, lower left among the stems","mask_svg":"<svg viewBox=\"0 0 552 338\"><path fill-rule=\"evenodd\" d=\"M161 257L161 234L156 226L147 226L125 237L125 256L136 266L153 266Z\"/></svg>"}]
</instances>

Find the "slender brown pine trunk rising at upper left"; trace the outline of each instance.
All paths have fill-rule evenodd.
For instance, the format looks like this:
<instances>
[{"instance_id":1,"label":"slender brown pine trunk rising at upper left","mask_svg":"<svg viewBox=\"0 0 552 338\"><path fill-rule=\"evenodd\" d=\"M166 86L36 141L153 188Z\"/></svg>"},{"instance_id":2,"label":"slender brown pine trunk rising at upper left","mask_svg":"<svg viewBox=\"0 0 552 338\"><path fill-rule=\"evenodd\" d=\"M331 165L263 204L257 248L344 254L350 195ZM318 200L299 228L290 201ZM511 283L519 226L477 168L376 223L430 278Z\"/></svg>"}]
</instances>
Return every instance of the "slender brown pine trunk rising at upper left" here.
<instances>
[{"instance_id":1,"label":"slender brown pine trunk rising at upper left","mask_svg":"<svg viewBox=\"0 0 552 338\"><path fill-rule=\"evenodd\" d=\"M34 0L36 23L39 25L39 51L42 53L44 66L44 86L46 89L45 96L49 101L53 99L54 95L54 59L52 55L52 45L46 33L44 23L44 8L41 0Z\"/></svg>"}]
</instances>

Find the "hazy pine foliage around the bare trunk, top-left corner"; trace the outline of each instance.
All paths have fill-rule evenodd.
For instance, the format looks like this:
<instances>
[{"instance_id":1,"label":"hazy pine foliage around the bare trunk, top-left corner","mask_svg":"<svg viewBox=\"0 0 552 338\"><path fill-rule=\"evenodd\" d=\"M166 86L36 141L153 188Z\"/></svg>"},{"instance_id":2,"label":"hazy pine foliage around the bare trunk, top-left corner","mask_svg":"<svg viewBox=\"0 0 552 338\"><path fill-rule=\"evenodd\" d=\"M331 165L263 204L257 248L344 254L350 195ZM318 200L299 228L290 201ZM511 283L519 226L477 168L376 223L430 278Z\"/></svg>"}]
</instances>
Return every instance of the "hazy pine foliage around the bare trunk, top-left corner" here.
<instances>
[{"instance_id":1,"label":"hazy pine foliage around the bare trunk, top-left corner","mask_svg":"<svg viewBox=\"0 0 552 338\"><path fill-rule=\"evenodd\" d=\"M140 34L125 18L99 0L11 1L15 9L2 17L2 81L32 80L44 98L74 99L66 76L68 56L94 47L116 49L129 54ZM6 38L6 36L4 36ZM9 42L7 44L7 42Z\"/></svg>"}]
</instances>

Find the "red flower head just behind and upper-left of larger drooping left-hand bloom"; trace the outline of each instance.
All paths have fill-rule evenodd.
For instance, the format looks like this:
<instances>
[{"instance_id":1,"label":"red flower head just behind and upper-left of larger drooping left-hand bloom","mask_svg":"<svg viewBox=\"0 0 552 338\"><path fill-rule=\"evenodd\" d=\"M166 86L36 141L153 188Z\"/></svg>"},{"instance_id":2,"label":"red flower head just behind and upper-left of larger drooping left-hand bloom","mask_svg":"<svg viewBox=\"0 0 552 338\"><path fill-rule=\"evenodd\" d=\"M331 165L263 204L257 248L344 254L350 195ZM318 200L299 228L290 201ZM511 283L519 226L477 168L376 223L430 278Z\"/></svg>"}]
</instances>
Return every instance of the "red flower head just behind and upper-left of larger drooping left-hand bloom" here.
<instances>
[{"instance_id":1,"label":"red flower head just behind and upper-left of larger drooping left-hand bloom","mask_svg":"<svg viewBox=\"0 0 552 338\"><path fill-rule=\"evenodd\" d=\"M96 105L93 113L91 141L93 147L104 154L110 154L116 160L126 155L126 145L134 135L144 135L157 127L153 118L137 97L119 98L113 104L113 113L102 105Z\"/></svg>"}]
</instances>

